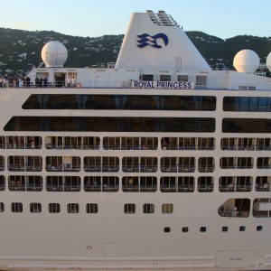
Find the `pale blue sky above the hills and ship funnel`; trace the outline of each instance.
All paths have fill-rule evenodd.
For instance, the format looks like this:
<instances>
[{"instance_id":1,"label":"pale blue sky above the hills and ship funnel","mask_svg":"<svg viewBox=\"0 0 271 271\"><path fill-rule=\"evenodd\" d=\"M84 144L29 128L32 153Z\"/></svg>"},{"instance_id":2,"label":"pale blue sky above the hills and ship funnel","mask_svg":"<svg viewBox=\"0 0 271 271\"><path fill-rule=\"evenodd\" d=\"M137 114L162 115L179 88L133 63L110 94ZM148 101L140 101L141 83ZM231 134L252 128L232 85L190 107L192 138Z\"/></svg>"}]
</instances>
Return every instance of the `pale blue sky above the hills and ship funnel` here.
<instances>
[{"instance_id":1,"label":"pale blue sky above the hills and ship funnel","mask_svg":"<svg viewBox=\"0 0 271 271\"><path fill-rule=\"evenodd\" d=\"M271 36L271 0L0 0L0 27L82 37L124 34L131 13L164 10L184 31Z\"/></svg>"}]
</instances>

